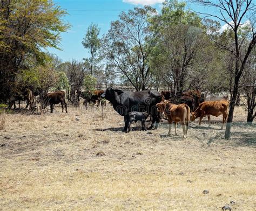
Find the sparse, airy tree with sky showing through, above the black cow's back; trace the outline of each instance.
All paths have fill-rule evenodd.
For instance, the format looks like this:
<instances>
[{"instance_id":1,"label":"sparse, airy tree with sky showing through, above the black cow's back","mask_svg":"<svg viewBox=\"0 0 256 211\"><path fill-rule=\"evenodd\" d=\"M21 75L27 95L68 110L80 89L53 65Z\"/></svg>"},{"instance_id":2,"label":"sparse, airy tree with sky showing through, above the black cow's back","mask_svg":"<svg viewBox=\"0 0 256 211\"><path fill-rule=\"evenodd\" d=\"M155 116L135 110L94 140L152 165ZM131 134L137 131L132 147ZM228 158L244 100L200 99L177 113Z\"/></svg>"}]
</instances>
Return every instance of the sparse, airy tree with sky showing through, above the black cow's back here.
<instances>
[{"instance_id":1,"label":"sparse, airy tree with sky showing through, above the black cow's back","mask_svg":"<svg viewBox=\"0 0 256 211\"><path fill-rule=\"evenodd\" d=\"M107 65L124 75L137 91L147 89L151 83L148 53L152 42L146 40L152 36L148 18L155 13L150 6L122 12L103 39Z\"/></svg>"}]
</instances>

